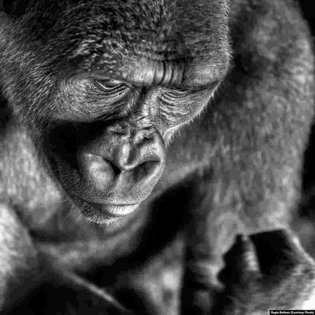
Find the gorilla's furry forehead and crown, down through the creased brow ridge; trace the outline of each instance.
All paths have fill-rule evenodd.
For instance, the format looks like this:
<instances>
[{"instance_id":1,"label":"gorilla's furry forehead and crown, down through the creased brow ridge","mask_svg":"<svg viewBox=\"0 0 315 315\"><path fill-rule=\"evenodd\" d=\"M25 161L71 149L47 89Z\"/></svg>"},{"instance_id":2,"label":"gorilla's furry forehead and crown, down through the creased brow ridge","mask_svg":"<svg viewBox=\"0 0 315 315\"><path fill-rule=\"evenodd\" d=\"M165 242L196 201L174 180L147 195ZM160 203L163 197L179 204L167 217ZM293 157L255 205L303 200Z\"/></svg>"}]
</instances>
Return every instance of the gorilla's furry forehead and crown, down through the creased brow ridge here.
<instances>
[{"instance_id":1,"label":"gorilla's furry forehead and crown, down through the creased brow ridge","mask_svg":"<svg viewBox=\"0 0 315 315\"><path fill-rule=\"evenodd\" d=\"M194 88L229 68L227 0L45 0L27 10L9 32L53 77Z\"/></svg>"}]
</instances>

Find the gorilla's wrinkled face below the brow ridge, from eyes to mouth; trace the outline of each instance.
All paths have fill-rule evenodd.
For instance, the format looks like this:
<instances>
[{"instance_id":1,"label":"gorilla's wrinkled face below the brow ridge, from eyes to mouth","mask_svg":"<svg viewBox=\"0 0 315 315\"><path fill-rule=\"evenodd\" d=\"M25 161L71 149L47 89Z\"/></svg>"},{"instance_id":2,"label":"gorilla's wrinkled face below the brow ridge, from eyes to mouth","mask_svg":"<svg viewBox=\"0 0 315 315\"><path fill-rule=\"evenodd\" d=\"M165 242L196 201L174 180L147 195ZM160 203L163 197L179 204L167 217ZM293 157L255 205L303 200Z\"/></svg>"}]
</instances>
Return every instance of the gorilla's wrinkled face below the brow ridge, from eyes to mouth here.
<instances>
[{"instance_id":1,"label":"gorilla's wrinkled face below the brow ridge, from eyes to mouth","mask_svg":"<svg viewBox=\"0 0 315 315\"><path fill-rule=\"evenodd\" d=\"M207 104L202 89L134 86L112 80L65 83L45 149L64 189L86 215L122 216L160 178L172 133ZM75 117L75 119L74 119Z\"/></svg>"}]
</instances>

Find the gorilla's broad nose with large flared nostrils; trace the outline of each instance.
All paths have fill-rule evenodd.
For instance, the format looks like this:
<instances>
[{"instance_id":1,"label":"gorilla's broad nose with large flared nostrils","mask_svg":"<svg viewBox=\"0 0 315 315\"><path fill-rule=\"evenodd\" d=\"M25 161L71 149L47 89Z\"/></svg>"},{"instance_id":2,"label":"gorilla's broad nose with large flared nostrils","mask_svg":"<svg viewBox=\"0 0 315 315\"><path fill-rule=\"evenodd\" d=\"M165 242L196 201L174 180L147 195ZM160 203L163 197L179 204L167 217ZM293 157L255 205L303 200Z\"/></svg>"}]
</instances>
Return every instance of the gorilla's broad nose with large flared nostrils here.
<instances>
[{"instance_id":1,"label":"gorilla's broad nose with large flared nostrils","mask_svg":"<svg viewBox=\"0 0 315 315\"><path fill-rule=\"evenodd\" d=\"M165 164L165 144L155 128L128 132L106 129L80 148L77 162L83 180L95 189L113 198L123 194L135 201L136 196L149 194L157 183Z\"/></svg>"}]
</instances>

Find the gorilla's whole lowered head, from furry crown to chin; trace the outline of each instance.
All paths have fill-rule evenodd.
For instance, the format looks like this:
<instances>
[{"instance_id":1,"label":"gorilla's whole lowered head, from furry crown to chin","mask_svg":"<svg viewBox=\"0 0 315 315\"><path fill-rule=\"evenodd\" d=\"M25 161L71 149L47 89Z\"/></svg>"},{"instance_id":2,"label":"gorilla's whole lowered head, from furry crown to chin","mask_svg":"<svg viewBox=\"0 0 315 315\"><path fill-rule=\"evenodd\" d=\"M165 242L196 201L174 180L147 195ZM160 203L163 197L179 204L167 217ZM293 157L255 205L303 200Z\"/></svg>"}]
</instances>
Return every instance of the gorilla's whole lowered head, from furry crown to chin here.
<instances>
[{"instance_id":1,"label":"gorilla's whole lowered head, from furry crown to chin","mask_svg":"<svg viewBox=\"0 0 315 315\"><path fill-rule=\"evenodd\" d=\"M141 3L138 11L92 4L54 3L54 22L38 4L9 24L23 46L12 47L19 57L3 49L11 57L2 68L9 69L8 99L54 178L83 214L103 221L150 195L170 137L202 111L225 76L228 9L210 1L200 16L187 3L156 12Z\"/></svg>"}]
</instances>

